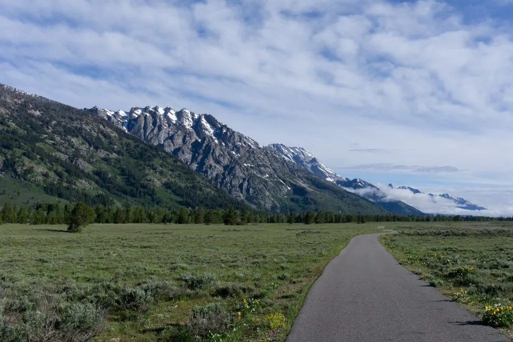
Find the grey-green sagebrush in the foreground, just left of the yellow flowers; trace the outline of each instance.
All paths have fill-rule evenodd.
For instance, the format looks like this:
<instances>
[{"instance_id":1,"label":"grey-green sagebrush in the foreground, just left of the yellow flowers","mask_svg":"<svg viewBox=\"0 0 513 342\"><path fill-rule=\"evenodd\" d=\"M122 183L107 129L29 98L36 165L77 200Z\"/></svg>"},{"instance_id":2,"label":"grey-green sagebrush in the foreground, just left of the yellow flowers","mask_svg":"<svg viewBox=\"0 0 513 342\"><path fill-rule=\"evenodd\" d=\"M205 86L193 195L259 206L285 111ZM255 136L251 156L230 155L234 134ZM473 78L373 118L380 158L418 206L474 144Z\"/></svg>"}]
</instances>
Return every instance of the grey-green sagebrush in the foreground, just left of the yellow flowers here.
<instances>
[{"instance_id":1,"label":"grey-green sagebrush in the foreground, just left of the yellow flowers","mask_svg":"<svg viewBox=\"0 0 513 342\"><path fill-rule=\"evenodd\" d=\"M230 327L230 314L219 303L192 308L187 330L193 336L206 337L209 333L225 333Z\"/></svg>"}]
</instances>

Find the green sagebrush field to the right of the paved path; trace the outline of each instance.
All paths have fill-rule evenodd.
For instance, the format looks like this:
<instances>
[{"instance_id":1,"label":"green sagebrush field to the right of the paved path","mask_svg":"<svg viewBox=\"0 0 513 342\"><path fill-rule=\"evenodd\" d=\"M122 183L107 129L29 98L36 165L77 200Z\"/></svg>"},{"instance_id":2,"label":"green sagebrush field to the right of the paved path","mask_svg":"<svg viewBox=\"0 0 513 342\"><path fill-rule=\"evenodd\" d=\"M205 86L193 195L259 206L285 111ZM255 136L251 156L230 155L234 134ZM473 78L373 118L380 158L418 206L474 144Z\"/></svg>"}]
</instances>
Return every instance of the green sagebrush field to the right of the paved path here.
<instances>
[{"instance_id":1,"label":"green sagebrush field to the right of the paved path","mask_svg":"<svg viewBox=\"0 0 513 342\"><path fill-rule=\"evenodd\" d=\"M398 225L382 244L401 265L483 317L513 304L513 223ZM513 338L513 320L502 332Z\"/></svg>"}]
</instances>

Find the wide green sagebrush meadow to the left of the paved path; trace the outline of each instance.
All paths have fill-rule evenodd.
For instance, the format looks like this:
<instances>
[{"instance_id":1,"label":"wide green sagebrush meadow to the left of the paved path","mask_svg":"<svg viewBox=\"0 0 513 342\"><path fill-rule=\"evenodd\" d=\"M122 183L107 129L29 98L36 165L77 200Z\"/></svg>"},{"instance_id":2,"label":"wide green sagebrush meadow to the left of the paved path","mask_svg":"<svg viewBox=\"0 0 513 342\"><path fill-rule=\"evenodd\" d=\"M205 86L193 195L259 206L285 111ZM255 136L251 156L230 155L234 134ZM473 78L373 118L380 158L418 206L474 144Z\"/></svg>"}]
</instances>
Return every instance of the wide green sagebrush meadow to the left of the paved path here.
<instances>
[{"instance_id":1,"label":"wide green sagebrush meadow to the left of the paved path","mask_svg":"<svg viewBox=\"0 0 513 342\"><path fill-rule=\"evenodd\" d=\"M50 296L96 341L280 341L328 261L378 226L4 225L0 301L12 325Z\"/></svg>"}]
</instances>

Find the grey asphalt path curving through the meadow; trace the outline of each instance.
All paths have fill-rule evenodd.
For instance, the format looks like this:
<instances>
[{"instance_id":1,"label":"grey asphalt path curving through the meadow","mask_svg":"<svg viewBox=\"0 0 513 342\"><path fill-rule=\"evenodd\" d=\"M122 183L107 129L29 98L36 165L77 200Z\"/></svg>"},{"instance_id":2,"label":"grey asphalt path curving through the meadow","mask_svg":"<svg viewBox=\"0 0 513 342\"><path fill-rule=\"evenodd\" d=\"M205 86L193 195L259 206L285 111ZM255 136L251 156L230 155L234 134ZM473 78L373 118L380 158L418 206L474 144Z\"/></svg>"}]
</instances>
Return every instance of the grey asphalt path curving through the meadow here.
<instances>
[{"instance_id":1,"label":"grey asphalt path curving through the meadow","mask_svg":"<svg viewBox=\"0 0 513 342\"><path fill-rule=\"evenodd\" d=\"M311 287L287 342L509 342L407 271L378 234L354 237Z\"/></svg>"}]
</instances>

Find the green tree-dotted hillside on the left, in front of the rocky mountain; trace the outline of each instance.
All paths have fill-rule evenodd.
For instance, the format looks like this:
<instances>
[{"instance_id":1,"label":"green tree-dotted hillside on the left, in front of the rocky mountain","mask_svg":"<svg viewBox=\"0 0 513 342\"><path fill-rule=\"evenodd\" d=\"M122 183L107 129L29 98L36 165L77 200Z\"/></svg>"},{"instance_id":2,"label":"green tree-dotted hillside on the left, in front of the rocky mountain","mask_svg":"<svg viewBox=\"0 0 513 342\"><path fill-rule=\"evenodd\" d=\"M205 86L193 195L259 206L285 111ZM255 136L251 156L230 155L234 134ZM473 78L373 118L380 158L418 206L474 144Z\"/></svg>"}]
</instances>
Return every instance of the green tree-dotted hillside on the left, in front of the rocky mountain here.
<instances>
[{"instance_id":1,"label":"green tree-dotted hillside on the left, in front of the rocky mountain","mask_svg":"<svg viewBox=\"0 0 513 342\"><path fill-rule=\"evenodd\" d=\"M0 201L245 208L100 117L0 85Z\"/></svg>"}]
</instances>

